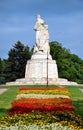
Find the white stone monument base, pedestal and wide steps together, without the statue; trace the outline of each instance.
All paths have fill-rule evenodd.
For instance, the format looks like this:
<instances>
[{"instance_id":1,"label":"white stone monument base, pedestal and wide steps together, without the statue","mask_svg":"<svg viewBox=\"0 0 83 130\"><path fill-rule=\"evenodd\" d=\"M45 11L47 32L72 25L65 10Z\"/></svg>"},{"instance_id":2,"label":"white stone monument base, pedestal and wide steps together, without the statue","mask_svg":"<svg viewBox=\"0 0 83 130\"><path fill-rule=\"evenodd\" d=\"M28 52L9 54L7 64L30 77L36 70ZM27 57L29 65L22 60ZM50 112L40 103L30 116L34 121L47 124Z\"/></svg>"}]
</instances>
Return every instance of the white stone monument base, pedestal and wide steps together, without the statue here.
<instances>
[{"instance_id":1,"label":"white stone monument base, pedestal and wide steps together, without the statue","mask_svg":"<svg viewBox=\"0 0 83 130\"><path fill-rule=\"evenodd\" d=\"M58 78L58 69L51 55L36 53L27 61L25 78L16 79L6 85L78 85L67 79Z\"/></svg>"}]
</instances>

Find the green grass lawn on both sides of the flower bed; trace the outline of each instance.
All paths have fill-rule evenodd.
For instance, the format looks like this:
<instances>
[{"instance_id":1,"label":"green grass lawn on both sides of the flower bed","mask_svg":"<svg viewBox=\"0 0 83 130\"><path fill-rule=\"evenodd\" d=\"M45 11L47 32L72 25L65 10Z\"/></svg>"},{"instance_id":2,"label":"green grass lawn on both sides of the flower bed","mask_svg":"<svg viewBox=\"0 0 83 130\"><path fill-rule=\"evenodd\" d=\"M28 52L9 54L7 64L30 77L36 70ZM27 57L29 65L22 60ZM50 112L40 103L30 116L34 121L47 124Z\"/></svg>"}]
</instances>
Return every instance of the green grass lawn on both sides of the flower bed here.
<instances>
[{"instance_id":1,"label":"green grass lawn on both sides of the flower bed","mask_svg":"<svg viewBox=\"0 0 83 130\"><path fill-rule=\"evenodd\" d=\"M18 91L19 87L46 87L46 86L0 86L0 88L8 88L6 92L0 94L0 118L8 113L12 101L16 97L16 92ZM57 87L57 86L48 86ZM71 93L72 104L75 108L75 112L82 116L83 118L83 92L80 91L80 86L67 86L68 90Z\"/></svg>"}]
</instances>

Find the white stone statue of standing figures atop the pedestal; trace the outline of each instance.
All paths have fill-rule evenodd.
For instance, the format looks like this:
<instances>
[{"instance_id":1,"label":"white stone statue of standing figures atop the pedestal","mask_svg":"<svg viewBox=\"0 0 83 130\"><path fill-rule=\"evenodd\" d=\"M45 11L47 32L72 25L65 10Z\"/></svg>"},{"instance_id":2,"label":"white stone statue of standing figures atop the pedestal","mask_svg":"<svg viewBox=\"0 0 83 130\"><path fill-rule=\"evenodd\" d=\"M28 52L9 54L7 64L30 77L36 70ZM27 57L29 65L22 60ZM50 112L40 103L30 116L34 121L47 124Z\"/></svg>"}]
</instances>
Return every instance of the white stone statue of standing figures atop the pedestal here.
<instances>
[{"instance_id":1,"label":"white stone statue of standing figures atop the pedestal","mask_svg":"<svg viewBox=\"0 0 83 130\"><path fill-rule=\"evenodd\" d=\"M36 31L34 53L42 52L50 54L48 26L45 24L44 20L41 19L40 15L37 15L34 30Z\"/></svg>"}]
</instances>

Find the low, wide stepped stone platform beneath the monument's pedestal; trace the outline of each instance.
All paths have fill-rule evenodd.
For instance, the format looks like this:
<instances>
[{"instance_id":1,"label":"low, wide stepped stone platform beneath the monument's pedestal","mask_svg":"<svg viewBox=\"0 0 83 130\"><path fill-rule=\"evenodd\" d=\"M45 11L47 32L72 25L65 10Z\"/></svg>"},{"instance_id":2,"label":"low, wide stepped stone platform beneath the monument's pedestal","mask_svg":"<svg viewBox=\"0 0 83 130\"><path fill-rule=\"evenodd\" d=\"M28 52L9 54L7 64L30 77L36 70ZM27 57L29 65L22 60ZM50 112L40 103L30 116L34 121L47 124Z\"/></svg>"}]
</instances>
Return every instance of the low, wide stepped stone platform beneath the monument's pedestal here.
<instances>
[{"instance_id":1,"label":"low, wide stepped stone platform beneath the monument's pedestal","mask_svg":"<svg viewBox=\"0 0 83 130\"><path fill-rule=\"evenodd\" d=\"M26 80L25 78L17 79L15 82L7 82L6 85L47 85L47 79L46 78L33 78ZM78 86L76 82L68 81L67 79L52 79L48 78L48 85L58 85L58 86L67 86L67 85L73 85Z\"/></svg>"}]
</instances>

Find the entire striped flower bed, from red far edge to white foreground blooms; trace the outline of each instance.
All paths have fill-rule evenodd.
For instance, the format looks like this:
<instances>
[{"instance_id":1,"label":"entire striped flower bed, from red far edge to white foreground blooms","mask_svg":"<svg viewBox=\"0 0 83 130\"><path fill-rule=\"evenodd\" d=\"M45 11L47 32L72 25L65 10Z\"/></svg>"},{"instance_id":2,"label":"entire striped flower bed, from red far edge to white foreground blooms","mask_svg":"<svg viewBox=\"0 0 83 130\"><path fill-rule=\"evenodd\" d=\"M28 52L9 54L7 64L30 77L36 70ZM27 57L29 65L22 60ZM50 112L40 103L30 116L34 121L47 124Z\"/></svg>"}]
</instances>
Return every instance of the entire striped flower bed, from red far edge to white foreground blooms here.
<instances>
[{"instance_id":1,"label":"entire striped flower bed, from red far edge to white foreground blooms","mask_svg":"<svg viewBox=\"0 0 83 130\"><path fill-rule=\"evenodd\" d=\"M1 130L83 130L66 88L20 88L0 125Z\"/></svg>"}]
</instances>

